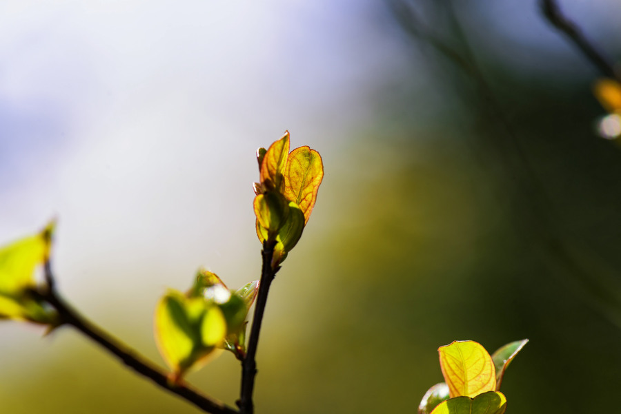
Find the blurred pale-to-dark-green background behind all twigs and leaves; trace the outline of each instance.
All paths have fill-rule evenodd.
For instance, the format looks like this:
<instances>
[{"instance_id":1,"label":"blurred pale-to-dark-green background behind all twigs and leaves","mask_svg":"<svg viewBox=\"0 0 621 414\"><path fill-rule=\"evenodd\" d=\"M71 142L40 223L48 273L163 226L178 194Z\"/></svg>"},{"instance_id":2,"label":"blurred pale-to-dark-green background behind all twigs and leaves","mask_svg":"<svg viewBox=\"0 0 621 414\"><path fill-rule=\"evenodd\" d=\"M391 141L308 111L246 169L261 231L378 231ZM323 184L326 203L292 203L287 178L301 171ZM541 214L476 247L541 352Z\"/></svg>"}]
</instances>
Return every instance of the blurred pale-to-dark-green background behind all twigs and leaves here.
<instances>
[{"instance_id":1,"label":"blurred pale-to-dark-green background behind all twigs and leaves","mask_svg":"<svg viewBox=\"0 0 621 414\"><path fill-rule=\"evenodd\" d=\"M621 59L621 3L564 0ZM437 347L531 342L511 413L621 386L621 152L598 72L535 0L5 0L0 242L58 218L59 289L163 364L152 312L198 267L259 278L255 150L326 175L279 272L257 413L415 413ZM197 413L70 329L0 324L2 411ZM225 353L188 380L234 405Z\"/></svg>"}]
</instances>

